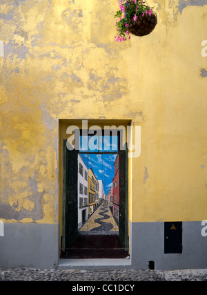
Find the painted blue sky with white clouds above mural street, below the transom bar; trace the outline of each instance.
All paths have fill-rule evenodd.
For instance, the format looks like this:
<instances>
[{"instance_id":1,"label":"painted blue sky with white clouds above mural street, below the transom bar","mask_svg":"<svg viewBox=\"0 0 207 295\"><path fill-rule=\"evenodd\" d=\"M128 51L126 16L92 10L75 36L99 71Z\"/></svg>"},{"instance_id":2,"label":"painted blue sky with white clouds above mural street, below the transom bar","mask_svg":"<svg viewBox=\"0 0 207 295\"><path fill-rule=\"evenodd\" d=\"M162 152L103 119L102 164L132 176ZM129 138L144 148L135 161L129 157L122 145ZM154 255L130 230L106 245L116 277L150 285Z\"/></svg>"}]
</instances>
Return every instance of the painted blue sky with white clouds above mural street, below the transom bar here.
<instances>
[{"instance_id":1,"label":"painted blue sky with white clouds above mural street, below the transom bar","mask_svg":"<svg viewBox=\"0 0 207 295\"><path fill-rule=\"evenodd\" d=\"M112 187L112 178L115 175L114 162L117 154L81 154L88 169L92 168L97 180L103 180L104 193Z\"/></svg>"}]
</instances>

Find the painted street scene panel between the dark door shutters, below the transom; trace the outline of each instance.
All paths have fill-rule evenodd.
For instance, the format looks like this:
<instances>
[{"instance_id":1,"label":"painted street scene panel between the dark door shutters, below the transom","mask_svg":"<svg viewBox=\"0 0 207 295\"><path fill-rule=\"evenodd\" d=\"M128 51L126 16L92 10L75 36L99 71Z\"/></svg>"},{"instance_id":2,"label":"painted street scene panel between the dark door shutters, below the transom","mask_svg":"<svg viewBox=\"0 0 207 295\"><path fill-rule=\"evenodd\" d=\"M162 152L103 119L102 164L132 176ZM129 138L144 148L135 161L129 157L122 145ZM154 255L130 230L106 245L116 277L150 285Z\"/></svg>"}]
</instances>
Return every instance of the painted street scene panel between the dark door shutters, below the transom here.
<instances>
[{"instance_id":1,"label":"painted street scene panel between the dark door shutters, below the transom","mask_svg":"<svg viewBox=\"0 0 207 295\"><path fill-rule=\"evenodd\" d=\"M79 234L119 234L119 155L79 153Z\"/></svg>"}]
</instances>

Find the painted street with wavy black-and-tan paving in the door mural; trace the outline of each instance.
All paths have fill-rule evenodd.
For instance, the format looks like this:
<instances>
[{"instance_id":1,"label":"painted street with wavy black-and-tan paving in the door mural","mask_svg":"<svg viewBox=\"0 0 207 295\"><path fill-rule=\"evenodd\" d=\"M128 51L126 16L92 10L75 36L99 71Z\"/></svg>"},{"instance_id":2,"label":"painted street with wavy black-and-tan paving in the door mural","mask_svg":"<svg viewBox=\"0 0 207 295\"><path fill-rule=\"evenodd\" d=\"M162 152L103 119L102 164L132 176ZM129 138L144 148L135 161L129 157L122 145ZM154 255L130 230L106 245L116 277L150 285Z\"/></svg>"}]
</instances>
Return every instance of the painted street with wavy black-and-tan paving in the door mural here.
<instances>
[{"instance_id":1,"label":"painted street with wavy black-and-tan paving in the door mural","mask_svg":"<svg viewBox=\"0 0 207 295\"><path fill-rule=\"evenodd\" d=\"M90 218L86 223L81 227L80 232L90 231L95 234L97 231L100 234L101 232L107 233L112 231L113 234L118 234L119 227L115 222L115 218L112 216L110 208L106 204L101 204L99 208L92 213ZM89 233L88 233L89 234Z\"/></svg>"}]
</instances>

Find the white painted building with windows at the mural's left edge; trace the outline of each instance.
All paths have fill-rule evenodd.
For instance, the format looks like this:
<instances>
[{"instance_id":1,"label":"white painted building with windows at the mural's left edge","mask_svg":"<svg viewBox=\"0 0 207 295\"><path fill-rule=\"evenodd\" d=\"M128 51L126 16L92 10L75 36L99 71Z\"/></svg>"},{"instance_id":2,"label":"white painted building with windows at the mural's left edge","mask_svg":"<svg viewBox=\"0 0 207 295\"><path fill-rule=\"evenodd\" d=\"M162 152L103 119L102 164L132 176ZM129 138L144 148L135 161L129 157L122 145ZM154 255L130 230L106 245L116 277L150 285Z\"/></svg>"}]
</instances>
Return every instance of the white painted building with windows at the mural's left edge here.
<instances>
[{"instance_id":1,"label":"white painted building with windows at the mural's left edge","mask_svg":"<svg viewBox=\"0 0 207 295\"><path fill-rule=\"evenodd\" d=\"M88 168L78 155L78 229L88 220Z\"/></svg>"}]
</instances>

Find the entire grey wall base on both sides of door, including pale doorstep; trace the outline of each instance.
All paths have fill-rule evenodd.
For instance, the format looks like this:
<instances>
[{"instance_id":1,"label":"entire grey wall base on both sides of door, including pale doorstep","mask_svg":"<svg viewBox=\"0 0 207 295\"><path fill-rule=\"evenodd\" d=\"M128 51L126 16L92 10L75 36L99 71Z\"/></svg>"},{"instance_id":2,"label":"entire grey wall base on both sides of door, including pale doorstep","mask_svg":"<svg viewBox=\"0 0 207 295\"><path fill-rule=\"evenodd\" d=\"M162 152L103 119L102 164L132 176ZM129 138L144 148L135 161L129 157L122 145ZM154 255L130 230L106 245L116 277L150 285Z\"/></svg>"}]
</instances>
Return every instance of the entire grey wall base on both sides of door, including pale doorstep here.
<instances>
[{"instance_id":1,"label":"entire grey wall base on both sides of door, including pale doorstep","mask_svg":"<svg viewBox=\"0 0 207 295\"><path fill-rule=\"evenodd\" d=\"M148 269L154 261L155 269L207 268L207 236L201 236L201 221L183 222L182 254L164 254L164 222L130 222L130 260L116 259L64 260L70 267L127 267ZM6 223L4 236L0 236L0 267L30 267L54 269L59 260L59 225ZM71 264L71 265L70 265ZM77 267L78 268L78 267Z\"/></svg>"}]
</instances>

